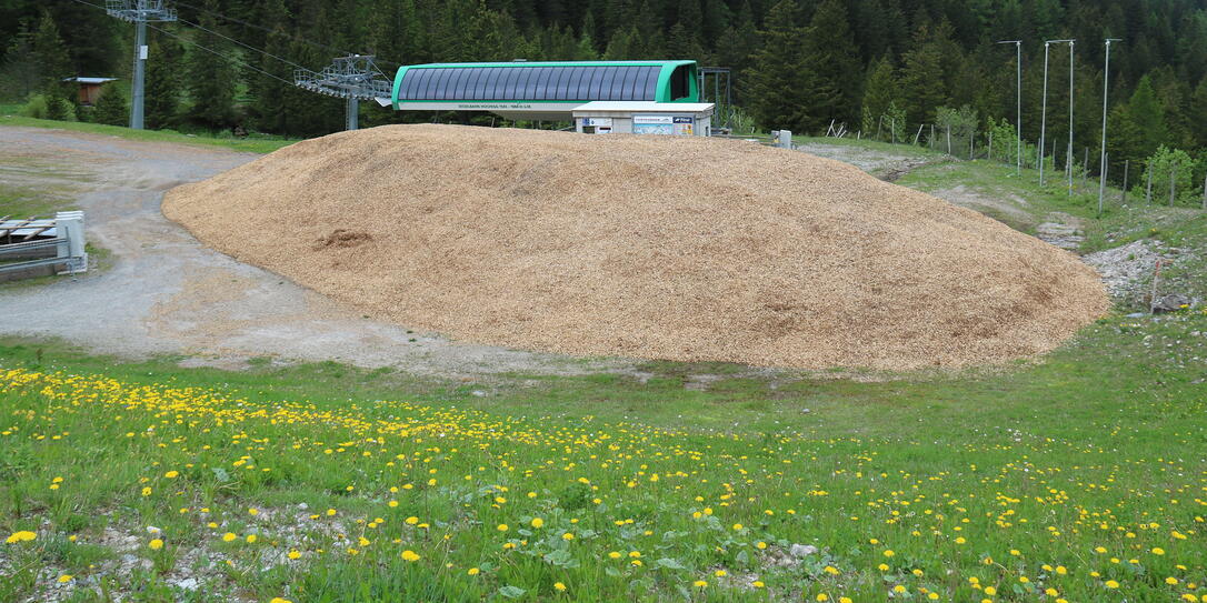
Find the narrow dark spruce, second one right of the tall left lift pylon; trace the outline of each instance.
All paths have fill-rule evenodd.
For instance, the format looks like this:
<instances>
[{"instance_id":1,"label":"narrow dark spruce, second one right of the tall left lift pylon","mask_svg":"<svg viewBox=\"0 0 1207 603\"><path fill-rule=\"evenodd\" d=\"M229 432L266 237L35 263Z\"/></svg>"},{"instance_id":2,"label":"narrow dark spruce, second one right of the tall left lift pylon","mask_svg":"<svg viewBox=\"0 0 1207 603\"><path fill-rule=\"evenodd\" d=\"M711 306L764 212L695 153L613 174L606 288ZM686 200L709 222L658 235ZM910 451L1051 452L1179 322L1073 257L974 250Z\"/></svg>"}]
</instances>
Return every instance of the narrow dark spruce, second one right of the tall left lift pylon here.
<instances>
[{"instance_id":1,"label":"narrow dark spruce, second one right of the tall left lift pylon","mask_svg":"<svg viewBox=\"0 0 1207 603\"><path fill-rule=\"evenodd\" d=\"M216 12L216 0L206 0L205 10ZM203 13L200 24L205 29L218 31L218 23L210 13ZM229 49L222 39L203 33L197 36L197 43L189 48L188 94L193 100L189 110L192 119L210 128L228 128L234 119L235 69L232 66ZM208 52L202 47L210 48Z\"/></svg>"}]
</instances>

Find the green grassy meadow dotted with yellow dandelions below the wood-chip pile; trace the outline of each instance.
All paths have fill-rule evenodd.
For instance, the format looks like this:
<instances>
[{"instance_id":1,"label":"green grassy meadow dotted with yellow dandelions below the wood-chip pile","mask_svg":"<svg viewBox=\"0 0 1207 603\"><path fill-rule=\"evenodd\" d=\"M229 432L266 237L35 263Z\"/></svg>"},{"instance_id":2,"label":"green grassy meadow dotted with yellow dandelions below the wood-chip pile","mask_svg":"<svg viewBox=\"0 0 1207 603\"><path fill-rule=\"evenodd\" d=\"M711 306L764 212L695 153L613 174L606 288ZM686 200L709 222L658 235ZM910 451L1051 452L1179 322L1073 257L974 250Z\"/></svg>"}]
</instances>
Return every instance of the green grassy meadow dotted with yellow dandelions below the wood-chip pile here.
<instances>
[{"instance_id":1,"label":"green grassy meadow dotted with yellow dandelions below the wood-chip pile","mask_svg":"<svg viewBox=\"0 0 1207 603\"><path fill-rule=\"evenodd\" d=\"M963 176L927 176L935 165L906 178L1018 186L997 165L958 166ZM1084 203L1049 197L1033 201L1037 212L1088 217ZM1094 228L1107 232L1124 216L1149 215L1120 211ZM1162 236L1201 235L1201 222L1153 216L1171 221ZM11 576L0 599L54 589L46 584L69 573L74 586L65 589L92 601L106 582L92 581L101 572L89 564L104 568L129 552L151 568L107 587L139 590L142 601L180 597L168 580L197 556L203 567L218 562L198 572L216 589L198 601L223 591L256 601L390 601L400 591L548 601L558 581L566 599L887 601L899 586L896 597L917 601L928 592L1037 601L1045 589L1057 595L1044 601L1171 601L1207 580L1205 332L1202 311L1116 316L1034 363L963 374L865 379L648 363L641 379L482 384L336 363L181 369L179 358L132 363L10 340L0 367L100 374L116 380L105 388L129 393L106 404L92 386L4 392L4 381L22 377L0 380L0 535L39 533L0 549L0 573ZM713 380L699 385L696 375ZM189 391L164 408L170 397L140 385L214 388L245 402L208 406L205 392ZM95 398L74 405L51 393L76 390ZM332 415L298 416L282 400ZM278 409L275 422L272 412L240 414L261 406ZM340 414L380 422L340 425ZM165 478L169 470L180 475ZM51 490L56 478L63 481ZM299 503L310 510L296 510ZM336 515L321 511L328 508ZM530 526L533 516L542 528ZM628 519L634 523L613 523ZM133 548L106 541L106 526L136 534ZM146 526L163 529L164 549L147 546ZM238 540L223 541L226 532ZM562 539L567 532L576 539ZM246 541L250 533L257 543ZM65 540L72 534L75 544ZM505 550L508 541L517 548ZM792 543L822 551L797 568L772 563ZM293 549L298 560L279 556ZM402 550L421 558L402 561ZM642 554L642 566L629 551ZM766 592L741 586L756 578ZM695 589L696 580L706 586Z\"/></svg>"}]
</instances>

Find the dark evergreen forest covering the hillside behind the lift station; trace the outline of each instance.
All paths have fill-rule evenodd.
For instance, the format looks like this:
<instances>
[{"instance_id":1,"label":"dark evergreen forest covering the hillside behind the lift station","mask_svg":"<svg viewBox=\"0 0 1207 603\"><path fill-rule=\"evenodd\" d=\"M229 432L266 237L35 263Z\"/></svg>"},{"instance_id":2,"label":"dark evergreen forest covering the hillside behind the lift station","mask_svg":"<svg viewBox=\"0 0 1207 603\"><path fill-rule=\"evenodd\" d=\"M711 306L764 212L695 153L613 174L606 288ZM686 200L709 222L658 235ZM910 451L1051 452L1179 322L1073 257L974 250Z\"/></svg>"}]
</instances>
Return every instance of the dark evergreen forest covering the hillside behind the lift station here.
<instances>
[{"instance_id":1,"label":"dark evergreen forest covering the hillside behind the lift station","mask_svg":"<svg viewBox=\"0 0 1207 603\"><path fill-rule=\"evenodd\" d=\"M59 82L63 77L115 76L122 78L119 84L128 82L133 28L107 17L97 4L0 4L5 101L41 94L57 117L70 118L62 115L70 103L53 101L72 99L70 88ZM378 55L387 75L398 65L427 62L690 58L731 68L736 104L764 129L820 134L832 119L851 131L891 122L896 134L912 136L919 124L933 124L947 111L974 118L975 131L987 131L1002 118L1013 124L1015 115L1014 47L996 42L1021 39L1022 136L1036 141L1043 41L1071 37L1077 40L1074 136L1096 153L1103 39L1119 37L1123 42L1114 46L1110 63L1112 163L1142 162L1165 146L1185 151L1200 170L1207 169L1207 0L191 0L169 5L182 22L148 30L146 113L156 128L240 127L291 136L336 131L343 125L340 101L287 82L292 64L321 69L336 55L356 52ZM1068 135L1067 119L1056 117L1068 113L1068 46L1053 45L1050 59L1051 141ZM87 111L76 113L89 118ZM363 119L367 125L482 121L378 107L366 107Z\"/></svg>"}]
</instances>

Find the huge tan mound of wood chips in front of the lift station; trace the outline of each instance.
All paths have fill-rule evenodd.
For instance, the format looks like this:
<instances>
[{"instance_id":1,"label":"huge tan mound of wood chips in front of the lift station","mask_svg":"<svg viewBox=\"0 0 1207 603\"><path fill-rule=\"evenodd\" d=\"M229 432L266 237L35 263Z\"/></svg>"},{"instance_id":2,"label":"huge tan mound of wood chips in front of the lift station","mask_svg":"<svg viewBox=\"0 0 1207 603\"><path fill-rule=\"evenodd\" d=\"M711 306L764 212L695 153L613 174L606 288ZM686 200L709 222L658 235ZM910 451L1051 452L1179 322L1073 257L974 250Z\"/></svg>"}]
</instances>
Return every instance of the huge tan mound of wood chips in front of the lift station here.
<instances>
[{"instance_id":1,"label":"huge tan mound of wood chips in front of the lift station","mask_svg":"<svg viewBox=\"0 0 1207 603\"><path fill-rule=\"evenodd\" d=\"M1068 252L742 141L389 125L298 142L163 207L363 312L571 355L958 367L1051 350L1108 308Z\"/></svg>"}]
</instances>

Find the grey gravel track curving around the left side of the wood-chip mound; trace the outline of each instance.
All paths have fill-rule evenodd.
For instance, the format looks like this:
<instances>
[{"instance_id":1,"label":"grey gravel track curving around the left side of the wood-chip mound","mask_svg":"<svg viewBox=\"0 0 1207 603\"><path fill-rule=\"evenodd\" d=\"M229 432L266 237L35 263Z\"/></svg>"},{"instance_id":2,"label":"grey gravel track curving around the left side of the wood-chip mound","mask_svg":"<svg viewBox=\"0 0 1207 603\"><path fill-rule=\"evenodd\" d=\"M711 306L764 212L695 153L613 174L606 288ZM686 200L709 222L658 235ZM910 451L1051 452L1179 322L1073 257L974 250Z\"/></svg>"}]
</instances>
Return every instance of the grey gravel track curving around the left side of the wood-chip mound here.
<instances>
[{"instance_id":1,"label":"grey gravel track curving around the left side of the wood-chip mound","mask_svg":"<svg viewBox=\"0 0 1207 603\"><path fill-rule=\"evenodd\" d=\"M113 136L0 128L0 182L70 187L112 265L45 286L0 287L0 334L54 336L127 357L187 355L226 368L253 357L348 362L439 375L577 374L625 363L449 341L366 320L202 246L163 217L163 192L257 156ZM0 212L2 213L2 212Z\"/></svg>"}]
</instances>

